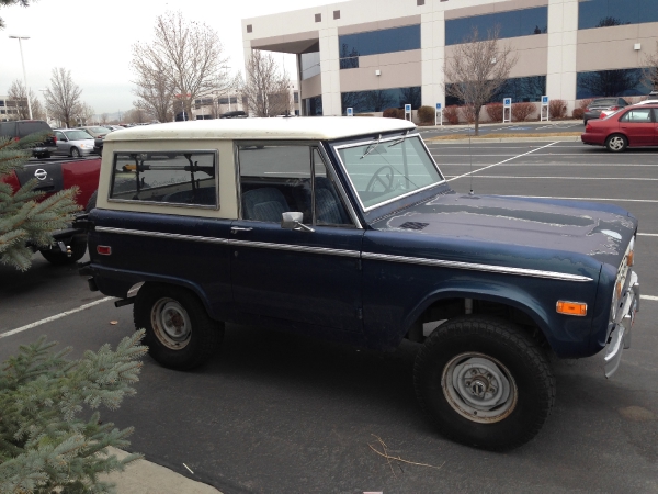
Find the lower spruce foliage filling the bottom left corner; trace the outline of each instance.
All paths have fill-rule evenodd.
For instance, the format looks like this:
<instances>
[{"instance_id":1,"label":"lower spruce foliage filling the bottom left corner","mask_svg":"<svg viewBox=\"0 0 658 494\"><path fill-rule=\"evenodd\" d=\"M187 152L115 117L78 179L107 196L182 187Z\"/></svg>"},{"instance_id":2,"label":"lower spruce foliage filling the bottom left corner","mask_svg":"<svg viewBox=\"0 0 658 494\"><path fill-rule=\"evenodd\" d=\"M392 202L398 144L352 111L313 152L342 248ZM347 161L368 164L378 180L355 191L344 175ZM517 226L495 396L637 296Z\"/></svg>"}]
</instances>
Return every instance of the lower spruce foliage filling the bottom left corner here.
<instances>
[{"instance_id":1,"label":"lower spruce foliage filling the bottom left corner","mask_svg":"<svg viewBox=\"0 0 658 494\"><path fill-rule=\"evenodd\" d=\"M125 448L133 433L103 424L99 412L80 418L83 405L114 409L124 396L136 392L141 358L147 348L139 343L144 330L124 338L112 351L104 345L86 351L79 360L67 360L70 348L54 352L56 343L22 346L0 367L0 492L3 494L112 493L114 484L99 474L123 471L141 458L123 460L110 456L107 447Z\"/></svg>"}]
</instances>

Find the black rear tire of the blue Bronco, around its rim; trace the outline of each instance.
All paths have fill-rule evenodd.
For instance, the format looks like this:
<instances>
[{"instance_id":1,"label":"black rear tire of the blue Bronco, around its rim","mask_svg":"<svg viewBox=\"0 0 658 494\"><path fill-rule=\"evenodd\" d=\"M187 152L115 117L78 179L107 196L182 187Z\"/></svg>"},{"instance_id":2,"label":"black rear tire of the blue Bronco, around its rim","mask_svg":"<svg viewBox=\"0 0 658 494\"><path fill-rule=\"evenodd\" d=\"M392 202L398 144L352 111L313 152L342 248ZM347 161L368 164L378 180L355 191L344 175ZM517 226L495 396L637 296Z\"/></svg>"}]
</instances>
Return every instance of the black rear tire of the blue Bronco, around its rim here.
<instances>
[{"instance_id":1,"label":"black rear tire of the blue Bronco, around its rim","mask_svg":"<svg viewBox=\"0 0 658 494\"><path fill-rule=\"evenodd\" d=\"M180 349L167 343L167 333L158 324L157 307L171 301L184 310L190 323L189 339ZM145 283L137 292L133 307L135 327L146 329L144 344L149 355L162 367L190 370L202 366L220 349L224 323L212 319L193 292L172 284Z\"/></svg>"}]
</instances>

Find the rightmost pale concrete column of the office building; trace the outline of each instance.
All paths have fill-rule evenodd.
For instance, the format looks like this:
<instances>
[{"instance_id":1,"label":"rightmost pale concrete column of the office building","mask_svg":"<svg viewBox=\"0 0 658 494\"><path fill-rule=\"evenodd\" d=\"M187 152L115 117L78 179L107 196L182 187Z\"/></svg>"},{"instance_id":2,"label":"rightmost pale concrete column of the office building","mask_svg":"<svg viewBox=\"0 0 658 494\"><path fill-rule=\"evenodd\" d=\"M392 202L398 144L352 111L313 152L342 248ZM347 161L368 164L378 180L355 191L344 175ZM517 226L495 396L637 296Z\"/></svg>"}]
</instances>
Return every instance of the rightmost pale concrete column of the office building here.
<instances>
[{"instance_id":1,"label":"rightmost pale concrete column of the office building","mask_svg":"<svg viewBox=\"0 0 658 494\"><path fill-rule=\"evenodd\" d=\"M578 45L578 0L548 0L548 67L546 92L552 100L576 102L576 53Z\"/></svg>"}]
</instances>

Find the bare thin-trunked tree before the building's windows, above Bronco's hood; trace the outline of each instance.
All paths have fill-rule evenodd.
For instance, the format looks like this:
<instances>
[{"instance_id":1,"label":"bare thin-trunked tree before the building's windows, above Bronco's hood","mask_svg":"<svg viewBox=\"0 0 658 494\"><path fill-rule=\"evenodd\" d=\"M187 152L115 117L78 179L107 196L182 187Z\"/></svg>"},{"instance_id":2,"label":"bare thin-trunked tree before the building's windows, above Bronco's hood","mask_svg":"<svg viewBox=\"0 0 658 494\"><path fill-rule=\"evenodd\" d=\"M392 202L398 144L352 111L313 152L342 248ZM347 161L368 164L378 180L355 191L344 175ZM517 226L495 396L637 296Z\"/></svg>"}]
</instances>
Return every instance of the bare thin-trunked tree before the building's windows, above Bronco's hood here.
<instances>
[{"instance_id":1,"label":"bare thin-trunked tree before the building's windows, above Bronco's hood","mask_svg":"<svg viewBox=\"0 0 658 494\"><path fill-rule=\"evenodd\" d=\"M510 46L500 46L499 29L486 40L474 29L464 43L455 45L445 63L445 94L473 105L475 135L479 134L479 113L509 78L519 57Z\"/></svg>"}]
</instances>

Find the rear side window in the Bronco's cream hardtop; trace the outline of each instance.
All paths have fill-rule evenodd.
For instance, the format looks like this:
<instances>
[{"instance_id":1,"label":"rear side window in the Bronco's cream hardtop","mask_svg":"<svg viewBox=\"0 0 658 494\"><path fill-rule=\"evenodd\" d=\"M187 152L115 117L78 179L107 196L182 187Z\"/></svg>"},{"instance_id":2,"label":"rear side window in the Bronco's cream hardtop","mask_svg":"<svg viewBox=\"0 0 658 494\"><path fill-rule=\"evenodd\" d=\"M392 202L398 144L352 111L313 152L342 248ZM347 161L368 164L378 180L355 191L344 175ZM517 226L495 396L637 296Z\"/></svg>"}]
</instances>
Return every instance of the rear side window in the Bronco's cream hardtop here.
<instances>
[{"instance_id":1,"label":"rear side window in the Bronco's cream hardtop","mask_svg":"<svg viewBox=\"0 0 658 494\"><path fill-rule=\"evenodd\" d=\"M115 153L110 201L219 207L216 151Z\"/></svg>"}]
</instances>

